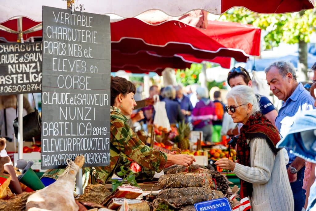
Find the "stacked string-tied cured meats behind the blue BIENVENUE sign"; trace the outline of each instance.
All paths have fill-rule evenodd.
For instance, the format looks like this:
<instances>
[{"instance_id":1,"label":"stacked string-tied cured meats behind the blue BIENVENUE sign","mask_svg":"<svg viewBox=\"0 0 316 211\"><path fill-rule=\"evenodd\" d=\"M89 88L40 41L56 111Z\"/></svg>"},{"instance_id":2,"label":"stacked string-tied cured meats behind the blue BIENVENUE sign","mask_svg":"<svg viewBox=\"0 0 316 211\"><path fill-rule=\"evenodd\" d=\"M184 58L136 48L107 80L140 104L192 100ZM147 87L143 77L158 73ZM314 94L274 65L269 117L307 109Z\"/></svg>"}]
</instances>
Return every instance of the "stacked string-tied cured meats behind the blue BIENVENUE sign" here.
<instances>
[{"instance_id":1,"label":"stacked string-tied cured meats behind the blue BIENVENUE sign","mask_svg":"<svg viewBox=\"0 0 316 211\"><path fill-rule=\"evenodd\" d=\"M227 197L228 179L212 166L171 166L166 175L159 178L157 186L162 189L154 200L154 210L194 211L197 202ZM229 199L232 206L232 201Z\"/></svg>"}]
</instances>

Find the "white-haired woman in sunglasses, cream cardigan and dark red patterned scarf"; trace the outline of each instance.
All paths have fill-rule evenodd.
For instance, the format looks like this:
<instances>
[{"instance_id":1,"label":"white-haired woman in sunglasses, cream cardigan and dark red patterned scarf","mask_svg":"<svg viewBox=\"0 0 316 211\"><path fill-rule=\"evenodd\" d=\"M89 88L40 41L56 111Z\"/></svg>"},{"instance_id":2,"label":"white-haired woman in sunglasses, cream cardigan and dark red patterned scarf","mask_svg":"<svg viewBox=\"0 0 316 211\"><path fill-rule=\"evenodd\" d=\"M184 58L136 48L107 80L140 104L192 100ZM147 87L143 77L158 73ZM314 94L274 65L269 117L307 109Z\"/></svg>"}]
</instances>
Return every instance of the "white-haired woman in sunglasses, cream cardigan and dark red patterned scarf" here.
<instances>
[{"instance_id":1,"label":"white-haired woman in sunglasses, cream cardigan and dark red patterned scarf","mask_svg":"<svg viewBox=\"0 0 316 211\"><path fill-rule=\"evenodd\" d=\"M227 94L226 111L244 125L237 140L237 160L222 158L216 165L240 178L241 197L248 196L253 211L294 210L294 200L283 152L276 148L276 127L260 113L253 90L235 86Z\"/></svg>"}]
</instances>

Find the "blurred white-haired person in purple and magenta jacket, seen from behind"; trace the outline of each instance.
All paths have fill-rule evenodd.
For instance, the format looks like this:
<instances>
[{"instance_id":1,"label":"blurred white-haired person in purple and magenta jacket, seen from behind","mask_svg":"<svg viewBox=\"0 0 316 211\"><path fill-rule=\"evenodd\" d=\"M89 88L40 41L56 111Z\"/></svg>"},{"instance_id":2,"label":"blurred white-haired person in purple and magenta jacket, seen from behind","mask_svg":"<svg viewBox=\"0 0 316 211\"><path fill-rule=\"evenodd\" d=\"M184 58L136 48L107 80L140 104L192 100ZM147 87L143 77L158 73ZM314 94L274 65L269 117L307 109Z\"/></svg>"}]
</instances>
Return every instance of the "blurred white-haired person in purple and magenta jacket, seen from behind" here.
<instances>
[{"instance_id":1,"label":"blurred white-haired person in purple and magenta jacket, seen from behind","mask_svg":"<svg viewBox=\"0 0 316 211\"><path fill-rule=\"evenodd\" d=\"M198 87L197 99L199 100L192 111L193 130L203 131L203 140L212 141L212 121L217 120L215 107L208 97L206 87Z\"/></svg>"}]
</instances>

